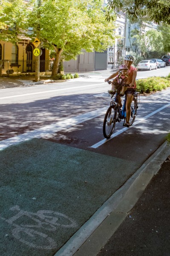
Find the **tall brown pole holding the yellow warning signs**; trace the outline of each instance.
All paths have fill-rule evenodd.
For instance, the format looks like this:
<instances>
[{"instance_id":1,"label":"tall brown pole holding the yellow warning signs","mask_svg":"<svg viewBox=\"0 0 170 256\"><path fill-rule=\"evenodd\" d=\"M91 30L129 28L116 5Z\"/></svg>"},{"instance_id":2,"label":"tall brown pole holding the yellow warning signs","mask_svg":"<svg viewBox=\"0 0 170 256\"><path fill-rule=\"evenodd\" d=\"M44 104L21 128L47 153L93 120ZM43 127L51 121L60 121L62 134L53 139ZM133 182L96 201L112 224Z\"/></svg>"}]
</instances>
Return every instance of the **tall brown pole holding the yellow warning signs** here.
<instances>
[{"instance_id":1,"label":"tall brown pole holding the yellow warning signs","mask_svg":"<svg viewBox=\"0 0 170 256\"><path fill-rule=\"evenodd\" d=\"M39 12L39 7L41 5L41 0L38 0L38 5L37 5L37 20L39 21L40 19L40 12ZM40 40L40 24L37 22L37 38ZM40 49L40 45L37 47ZM38 82L40 80L40 54L38 56L35 56L35 82Z\"/></svg>"}]
</instances>

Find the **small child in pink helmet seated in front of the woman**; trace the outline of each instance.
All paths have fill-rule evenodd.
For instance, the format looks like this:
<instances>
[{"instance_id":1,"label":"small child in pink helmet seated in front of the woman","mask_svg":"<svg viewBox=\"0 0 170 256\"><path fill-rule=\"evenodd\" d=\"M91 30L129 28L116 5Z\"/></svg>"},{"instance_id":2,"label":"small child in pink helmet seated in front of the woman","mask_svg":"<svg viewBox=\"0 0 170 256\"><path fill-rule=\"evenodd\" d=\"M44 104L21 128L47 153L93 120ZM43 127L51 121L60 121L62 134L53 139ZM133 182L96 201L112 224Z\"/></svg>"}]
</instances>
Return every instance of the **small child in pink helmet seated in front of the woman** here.
<instances>
[{"instance_id":1,"label":"small child in pink helmet seated in front of the woman","mask_svg":"<svg viewBox=\"0 0 170 256\"><path fill-rule=\"evenodd\" d=\"M124 86L124 84L127 83L127 66L121 65L119 67L119 74L113 79L112 81L112 89L108 91L109 94L114 95L116 91L116 86L122 85L120 96L124 96L124 92L127 90L127 86Z\"/></svg>"}]
</instances>

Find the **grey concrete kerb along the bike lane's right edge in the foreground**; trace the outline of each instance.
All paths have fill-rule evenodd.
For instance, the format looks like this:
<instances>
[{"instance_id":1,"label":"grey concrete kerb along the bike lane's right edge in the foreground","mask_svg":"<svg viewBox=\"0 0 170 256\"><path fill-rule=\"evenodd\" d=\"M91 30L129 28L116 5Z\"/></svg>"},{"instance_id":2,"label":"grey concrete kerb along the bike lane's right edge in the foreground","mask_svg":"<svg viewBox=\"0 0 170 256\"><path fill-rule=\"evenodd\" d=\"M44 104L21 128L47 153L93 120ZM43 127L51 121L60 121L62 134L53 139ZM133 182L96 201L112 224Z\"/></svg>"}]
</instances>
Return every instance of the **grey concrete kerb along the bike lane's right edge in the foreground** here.
<instances>
[{"instance_id":1,"label":"grey concrete kerb along the bike lane's right edge in the foreground","mask_svg":"<svg viewBox=\"0 0 170 256\"><path fill-rule=\"evenodd\" d=\"M127 217L168 156L170 156L170 145L164 142L58 250L55 256L96 256Z\"/></svg>"}]
</instances>

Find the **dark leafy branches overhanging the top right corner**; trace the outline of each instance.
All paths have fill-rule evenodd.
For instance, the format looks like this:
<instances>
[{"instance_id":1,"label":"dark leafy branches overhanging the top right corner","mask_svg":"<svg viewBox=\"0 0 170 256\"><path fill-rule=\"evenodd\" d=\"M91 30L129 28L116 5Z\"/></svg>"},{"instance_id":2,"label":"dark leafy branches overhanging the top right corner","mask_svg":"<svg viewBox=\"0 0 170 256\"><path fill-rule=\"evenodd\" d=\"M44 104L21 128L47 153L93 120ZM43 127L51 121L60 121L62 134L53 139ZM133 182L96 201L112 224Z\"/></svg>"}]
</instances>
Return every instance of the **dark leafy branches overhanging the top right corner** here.
<instances>
[{"instance_id":1,"label":"dark leafy branches overhanging the top right corner","mask_svg":"<svg viewBox=\"0 0 170 256\"><path fill-rule=\"evenodd\" d=\"M138 20L156 23L170 24L170 1L169 0L108 0L107 20L112 19L110 10L117 14L125 12L130 21Z\"/></svg>"}]
</instances>

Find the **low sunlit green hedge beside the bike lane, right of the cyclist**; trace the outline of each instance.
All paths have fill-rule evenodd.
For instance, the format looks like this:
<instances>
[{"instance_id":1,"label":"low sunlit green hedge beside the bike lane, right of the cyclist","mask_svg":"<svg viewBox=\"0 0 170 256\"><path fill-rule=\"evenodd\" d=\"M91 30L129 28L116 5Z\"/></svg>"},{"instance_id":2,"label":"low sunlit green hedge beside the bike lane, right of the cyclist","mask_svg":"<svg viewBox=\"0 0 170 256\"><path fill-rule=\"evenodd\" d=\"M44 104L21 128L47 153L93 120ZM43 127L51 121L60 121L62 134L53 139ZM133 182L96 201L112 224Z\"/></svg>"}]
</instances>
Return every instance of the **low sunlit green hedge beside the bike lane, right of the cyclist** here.
<instances>
[{"instance_id":1,"label":"low sunlit green hedge beside the bike lane, right of the cyclist","mask_svg":"<svg viewBox=\"0 0 170 256\"><path fill-rule=\"evenodd\" d=\"M168 77L148 77L136 81L136 90L140 93L161 91L167 87L170 87L170 79Z\"/></svg>"}]
</instances>

